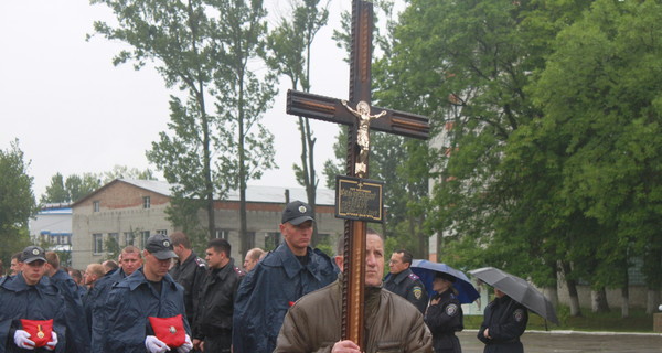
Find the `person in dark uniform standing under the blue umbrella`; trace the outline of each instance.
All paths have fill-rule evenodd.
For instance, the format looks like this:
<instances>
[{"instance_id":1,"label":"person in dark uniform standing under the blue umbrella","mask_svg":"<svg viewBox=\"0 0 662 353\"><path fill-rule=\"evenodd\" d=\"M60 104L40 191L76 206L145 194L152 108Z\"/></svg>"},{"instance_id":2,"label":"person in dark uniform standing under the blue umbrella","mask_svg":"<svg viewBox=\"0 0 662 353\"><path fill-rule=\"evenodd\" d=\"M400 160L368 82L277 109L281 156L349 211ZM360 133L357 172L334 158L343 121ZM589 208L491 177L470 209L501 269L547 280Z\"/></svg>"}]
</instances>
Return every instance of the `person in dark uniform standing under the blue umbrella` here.
<instances>
[{"instance_id":1,"label":"person in dark uniform standing under the blue umbrella","mask_svg":"<svg viewBox=\"0 0 662 353\"><path fill-rule=\"evenodd\" d=\"M452 284L456 278L445 272L436 272L433 290L436 295L425 312L425 323L433 333L435 353L461 353L460 340L455 335L462 331L462 307L458 300L458 291Z\"/></svg>"}]
</instances>

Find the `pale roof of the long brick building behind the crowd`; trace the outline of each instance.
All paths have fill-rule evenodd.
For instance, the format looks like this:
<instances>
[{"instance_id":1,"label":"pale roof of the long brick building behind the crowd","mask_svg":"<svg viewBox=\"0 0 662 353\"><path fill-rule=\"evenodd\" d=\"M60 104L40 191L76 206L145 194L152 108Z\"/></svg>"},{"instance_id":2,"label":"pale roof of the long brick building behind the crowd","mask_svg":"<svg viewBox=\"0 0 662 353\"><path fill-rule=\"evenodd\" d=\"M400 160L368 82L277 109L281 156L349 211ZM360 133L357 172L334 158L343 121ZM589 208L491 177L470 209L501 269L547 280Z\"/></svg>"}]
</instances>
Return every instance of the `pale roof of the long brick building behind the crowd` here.
<instances>
[{"instance_id":1,"label":"pale roof of the long brick building behind the crowd","mask_svg":"<svg viewBox=\"0 0 662 353\"><path fill-rule=\"evenodd\" d=\"M173 196L171 191L172 184L160 181L160 180L137 180L137 179L116 179L108 184L102 186L89 195L83 197L77 201L77 203L82 202L85 199L88 199L90 195L97 193L102 189L107 188L108 185L124 182L131 185L135 185L140 189L145 189L151 192L159 193L161 195L166 195L169 197ZM303 188L286 188L286 186L261 186L261 185L248 185L246 189L246 202L264 202L264 203L285 203L285 193L286 190L289 190L289 199L290 200L301 200L307 201L308 196L306 195L306 189ZM239 191L232 190L227 193L227 196L222 197L222 201L239 201ZM329 189L317 189L317 197L316 203L318 205L334 205L335 204L335 191Z\"/></svg>"}]
</instances>

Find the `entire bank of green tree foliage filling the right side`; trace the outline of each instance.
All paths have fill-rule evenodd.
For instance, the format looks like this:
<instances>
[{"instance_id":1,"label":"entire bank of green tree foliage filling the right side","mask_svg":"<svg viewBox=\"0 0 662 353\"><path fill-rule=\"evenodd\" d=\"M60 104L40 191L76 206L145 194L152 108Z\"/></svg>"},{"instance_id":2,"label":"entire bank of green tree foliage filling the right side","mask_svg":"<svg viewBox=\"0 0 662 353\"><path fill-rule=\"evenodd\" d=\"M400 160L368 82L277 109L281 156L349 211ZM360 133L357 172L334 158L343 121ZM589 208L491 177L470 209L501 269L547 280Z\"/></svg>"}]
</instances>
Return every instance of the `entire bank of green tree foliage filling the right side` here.
<instances>
[{"instance_id":1,"label":"entire bank of green tree foliage filling the right side","mask_svg":"<svg viewBox=\"0 0 662 353\"><path fill-rule=\"evenodd\" d=\"M433 118L444 261L551 287L566 264L596 292L660 268L659 7L410 1L378 96Z\"/></svg>"}]
</instances>

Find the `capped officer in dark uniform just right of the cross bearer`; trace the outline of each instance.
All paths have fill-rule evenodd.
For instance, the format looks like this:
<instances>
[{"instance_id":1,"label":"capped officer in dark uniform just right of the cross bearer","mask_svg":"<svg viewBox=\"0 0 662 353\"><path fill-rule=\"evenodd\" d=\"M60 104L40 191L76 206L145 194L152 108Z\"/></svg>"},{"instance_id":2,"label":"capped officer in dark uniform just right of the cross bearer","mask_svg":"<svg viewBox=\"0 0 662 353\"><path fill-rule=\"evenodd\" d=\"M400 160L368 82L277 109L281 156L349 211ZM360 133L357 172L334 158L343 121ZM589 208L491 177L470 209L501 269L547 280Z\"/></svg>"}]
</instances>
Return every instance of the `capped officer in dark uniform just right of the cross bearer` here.
<instances>
[{"instance_id":1,"label":"capped officer in dark uniform just right of the cross bearer","mask_svg":"<svg viewBox=\"0 0 662 353\"><path fill-rule=\"evenodd\" d=\"M384 288L407 299L418 311L425 312L428 296L425 286L418 276L412 272L412 259L414 256L407 250L395 250L391 255L388 268L391 272L384 279Z\"/></svg>"}]
</instances>

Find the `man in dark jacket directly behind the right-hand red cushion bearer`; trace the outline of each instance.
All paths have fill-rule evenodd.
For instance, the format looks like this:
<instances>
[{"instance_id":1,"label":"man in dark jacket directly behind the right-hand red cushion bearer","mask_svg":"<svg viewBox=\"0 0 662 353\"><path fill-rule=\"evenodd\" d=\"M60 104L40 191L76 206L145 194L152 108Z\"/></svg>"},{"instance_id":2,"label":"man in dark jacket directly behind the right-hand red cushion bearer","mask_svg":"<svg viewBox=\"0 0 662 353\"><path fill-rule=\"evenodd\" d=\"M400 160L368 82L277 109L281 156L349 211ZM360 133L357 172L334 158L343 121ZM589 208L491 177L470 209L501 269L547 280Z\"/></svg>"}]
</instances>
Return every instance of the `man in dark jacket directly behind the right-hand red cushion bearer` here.
<instances>
[{"instance_id":1,"label":"man in dark jacket directly behind the right-hand red cushion bearer","mask_svg":"<svg viewBox=\"0 0 662 353\"><path fill-rule=\"evenodd\" d=\"M174 254L179 256L174 266L170 269L170 276L175 282L184 287L184 306L186 308L186 318L189 324L193 327L195 322L195 308L197 308L197 298L202 282L206 276L206 263L195 255L191 249L191 240L182 232L174 232L170 235Z\"/></svg>"}]
</instances>

